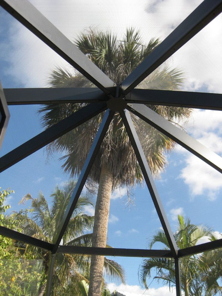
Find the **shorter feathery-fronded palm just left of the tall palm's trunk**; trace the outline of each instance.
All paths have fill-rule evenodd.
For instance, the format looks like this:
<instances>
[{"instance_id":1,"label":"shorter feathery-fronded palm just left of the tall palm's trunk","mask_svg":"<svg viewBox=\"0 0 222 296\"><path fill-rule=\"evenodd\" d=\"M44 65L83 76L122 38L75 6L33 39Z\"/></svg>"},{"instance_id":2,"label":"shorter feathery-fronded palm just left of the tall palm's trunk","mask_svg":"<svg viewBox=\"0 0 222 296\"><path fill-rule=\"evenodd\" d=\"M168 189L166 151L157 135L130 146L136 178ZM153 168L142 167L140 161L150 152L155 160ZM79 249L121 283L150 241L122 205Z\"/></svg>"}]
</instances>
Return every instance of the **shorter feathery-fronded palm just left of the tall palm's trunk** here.
<instances>
[{"instance_id":1,"label":"shorter feathery-fronded palm just left of the tall palm's trunk","mask_svg":"<svg viewBox=\"0 0 222 296\"><path fill-rule=\"evenodd\" d=\"M75 185L76 182L71 180L64 184L62 189L57 186L51 194L53 198L51 207L48 206L42 192L35 199L28 193L22 198L20 203L31 200L31 209L28 211L21 210L20 212L13 212L12 218L20 222L25 234L52 243L52 239L63 218ZM85 207L89 205L93 205L91 199L86 196L80 196L63 235L61 244L73 246L92 245L92 234L88 232L92 229L94 216L84 213ZM31 217L28 215L28 212L31 213ZM48 252L39 250L31 245L25 248L25 252L27 254L40 254L43 259L45 274L47 274L49 263ZM58 253L54 268L53 295L61 295L61 292L64 292L66 288L69 289L70 285L72 285L72 290L77 293L77 283L81 280L88 281L87 274L89 274L89 266L90 256L88 255ZM104 272L112 279L117 279L124 283L124 271L115 261L105 258ZM39 296L44 294L45 286L46 281L43 281Z\"/></svg>"}]
</instances>

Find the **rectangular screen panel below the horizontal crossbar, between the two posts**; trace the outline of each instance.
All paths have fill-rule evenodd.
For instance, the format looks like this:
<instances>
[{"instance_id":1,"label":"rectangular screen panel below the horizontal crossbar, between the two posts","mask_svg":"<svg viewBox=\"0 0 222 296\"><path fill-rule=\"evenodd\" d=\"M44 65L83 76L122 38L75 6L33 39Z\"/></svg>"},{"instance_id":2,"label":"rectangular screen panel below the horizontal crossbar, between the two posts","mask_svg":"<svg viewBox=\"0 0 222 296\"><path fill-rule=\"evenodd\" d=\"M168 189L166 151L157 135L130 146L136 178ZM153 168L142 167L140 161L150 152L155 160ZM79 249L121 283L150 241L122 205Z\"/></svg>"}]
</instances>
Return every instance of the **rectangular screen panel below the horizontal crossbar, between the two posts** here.
<instances>
[{"instance_id":1,"label":"rectangular screen panel below the horizontal crossbar, between the two posts","mask_svg":"<svg viewBox=\"0 0 222 296\"><path fill-rule=\"evenodd\" d=\"M98 259L103 260L103 257L98 256ZM148 276L146 279L149 289L145 289L144 284L139 279L138 270L142 272L142 264L146 263L147 260L156 260L156 262L158 262L158 258L105 257L102 290L109 289L110 293L115 292L116 294L114 295L116 296L170 296L172 295L172 291L175 293L175 289L172 287L173 283L171 283L171 288L169 289L163 281L159 281L158 283L158 281L154 279L156 276L155 268L151 270L150 277ZM170 258L165 258L163 263L165 262L172 266L174 264L174 260ZM82 295L79 287L84 286L86 290L89 287L89 266L90 256L56 254L51 295L61 295L61 292L63 292L64 295ZM106 266L108 267L106 268ZM110 276L110 274L112 274L112 276Z\"/></svg>"}]
</instances>

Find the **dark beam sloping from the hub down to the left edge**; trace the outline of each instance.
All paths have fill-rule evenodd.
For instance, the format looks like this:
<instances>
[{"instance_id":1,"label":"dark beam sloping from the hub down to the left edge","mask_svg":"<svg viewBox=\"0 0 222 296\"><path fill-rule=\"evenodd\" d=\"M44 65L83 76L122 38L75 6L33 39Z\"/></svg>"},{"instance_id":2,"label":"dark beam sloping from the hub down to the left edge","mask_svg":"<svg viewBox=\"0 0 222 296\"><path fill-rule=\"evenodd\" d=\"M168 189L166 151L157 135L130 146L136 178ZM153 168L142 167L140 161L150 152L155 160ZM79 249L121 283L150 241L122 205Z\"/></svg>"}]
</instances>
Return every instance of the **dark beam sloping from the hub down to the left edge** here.
<instances>
[{"instance_id":1,"label":"dark beam sloping from the hub down to the left edge","mask_svg":"<svg viewBox=\"0 0 222 296\"><path fill-rule=\"evenodd\" d=\"M2 156L0 158L0 173L106 109L107 105L105 103L91 103L49 127L31 140Z\"/></svg>"}]
</instances>

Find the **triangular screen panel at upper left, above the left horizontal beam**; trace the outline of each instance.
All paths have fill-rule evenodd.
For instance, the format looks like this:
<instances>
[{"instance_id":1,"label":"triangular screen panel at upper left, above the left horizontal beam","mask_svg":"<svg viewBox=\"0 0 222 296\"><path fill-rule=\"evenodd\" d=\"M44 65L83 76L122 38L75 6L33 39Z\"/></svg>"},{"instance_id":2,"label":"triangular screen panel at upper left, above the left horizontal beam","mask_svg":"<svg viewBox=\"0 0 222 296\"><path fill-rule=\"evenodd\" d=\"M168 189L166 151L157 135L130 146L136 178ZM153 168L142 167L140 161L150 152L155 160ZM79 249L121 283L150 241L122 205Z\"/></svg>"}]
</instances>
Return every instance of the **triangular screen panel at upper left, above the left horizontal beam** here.
<instances>
[{"instance_id":1,"label":"triangular screen panel at upper left, above the left horizontal beam","mask_svg":"<svg viewBox=\"0 0 222 296\"><path fill-rule=\"evenodd\" d=\"M0 8L0 40L2 87L94 87L3 8Z\"/></svg>"}]
</instances>

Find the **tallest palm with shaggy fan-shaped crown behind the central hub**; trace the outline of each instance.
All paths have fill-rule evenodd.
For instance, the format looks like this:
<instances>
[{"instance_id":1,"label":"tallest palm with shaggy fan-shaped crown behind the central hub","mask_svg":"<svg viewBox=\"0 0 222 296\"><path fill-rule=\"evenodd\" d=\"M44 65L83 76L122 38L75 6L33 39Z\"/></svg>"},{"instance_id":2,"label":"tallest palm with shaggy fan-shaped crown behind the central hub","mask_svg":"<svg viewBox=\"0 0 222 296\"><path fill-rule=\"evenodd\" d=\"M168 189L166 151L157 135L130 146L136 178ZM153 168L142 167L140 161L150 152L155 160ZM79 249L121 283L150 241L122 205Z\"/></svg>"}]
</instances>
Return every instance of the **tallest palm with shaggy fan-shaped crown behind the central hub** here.
<instances>
[{"instance_id":1,"label":"tallest palm with shaggy fan-shaped crown behind the central hub","mask_svg":"<svg viewBox=\"0 0 222 296\"><path fill-rule=\"evenodd\" d=\"M77 38L75 45L86 54L116 84L120 84L143 59L159 45L159 39L151 39L148 44L142 42L139 31L128 29L122 41L109 32L103 33L90 29ZM183 83L183 73L177 68L167 65L150 74L139 87L177 90ZM93 87L94 85L83 75L56 67L48 78L50 87ZM63 118L82 108L84 104L45 105L39 110L42 113L43 126L48 128ZM170 121L187 118L191 109L149 106ZM77 129L63 135L48 146L48 152L65 153L61 159L62 167L71 176L78 176L83 167L92 141L101 123L102 115L98 115ZM164 152L174 147L174 142L165 135L136 116L132 116L139 138L142 141L145 155L152 173L157 175L165 166ZM92 245L105 247L107 240L107 223L112 190L119 186L131 187L141 184L142 172L138 165L133 148L127 136L118 112L115 113L104 141L100 147L94 165L91 168L88 182L98 184L95 205L95 222ZM103 256L92 256L89 295L101 294Z\"/></svg>"}]
</instances>

